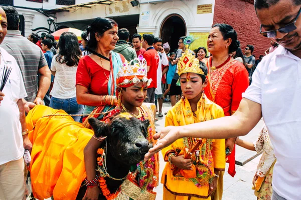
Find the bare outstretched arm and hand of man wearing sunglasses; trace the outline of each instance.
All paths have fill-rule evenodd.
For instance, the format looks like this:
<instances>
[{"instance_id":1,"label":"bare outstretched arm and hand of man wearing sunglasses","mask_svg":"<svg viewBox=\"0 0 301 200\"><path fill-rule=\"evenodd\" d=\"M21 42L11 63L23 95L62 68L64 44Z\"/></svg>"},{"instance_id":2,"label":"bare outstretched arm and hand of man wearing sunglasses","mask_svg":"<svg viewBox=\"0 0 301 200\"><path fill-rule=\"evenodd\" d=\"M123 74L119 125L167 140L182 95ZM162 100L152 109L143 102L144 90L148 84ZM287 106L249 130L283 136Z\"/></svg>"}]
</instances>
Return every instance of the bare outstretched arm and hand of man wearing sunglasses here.
<instances>
[{"instance_id":1,"label":"bare outstretched arm and hand of man wearing sunglasses","mask_svg":"<svg viewBox=\"0 0 301 200\"><path fill-rule=\"evenodd\" d=\"M180 127L167 126L154 135L154 139L160 140L149 149L144 160L182 137L220 139L246 135L258 123L261 116L261 104L243 98L238 109L231 116Z\"/></svg>"}]
</instances>

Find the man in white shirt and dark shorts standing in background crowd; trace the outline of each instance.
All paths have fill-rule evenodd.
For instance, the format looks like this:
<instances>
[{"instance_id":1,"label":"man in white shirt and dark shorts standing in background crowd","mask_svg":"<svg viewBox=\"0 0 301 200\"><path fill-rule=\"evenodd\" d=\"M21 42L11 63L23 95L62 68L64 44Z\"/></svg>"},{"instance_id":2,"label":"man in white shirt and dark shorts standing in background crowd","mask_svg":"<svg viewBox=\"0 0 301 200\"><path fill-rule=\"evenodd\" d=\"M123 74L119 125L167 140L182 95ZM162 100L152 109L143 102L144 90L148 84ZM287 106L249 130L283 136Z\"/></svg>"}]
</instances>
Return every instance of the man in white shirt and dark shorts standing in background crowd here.
<instances>
[{"instance_id":1,"label":"man in white shirt and dark shorts standing in background crowd","mask_svg":"<svg viewBox=\"0 0 301 200\"><path fill-rule=\"evenodd\" d=\"M159 117L163 117L162 114L162 106L163 106L163 90L164 86L162 85L162 64L168 65L168 59L166 56L166 53L164 51L164 48L162 47L162 39L159 37L155 37L153 46L155 50L158 51L159 55L159 65L157 68L157 88L155 89L155 104L156 108L158 109L158 103L159 103ZM157 103L158 101L158 103Z\"/></svg>"}]
</instances>

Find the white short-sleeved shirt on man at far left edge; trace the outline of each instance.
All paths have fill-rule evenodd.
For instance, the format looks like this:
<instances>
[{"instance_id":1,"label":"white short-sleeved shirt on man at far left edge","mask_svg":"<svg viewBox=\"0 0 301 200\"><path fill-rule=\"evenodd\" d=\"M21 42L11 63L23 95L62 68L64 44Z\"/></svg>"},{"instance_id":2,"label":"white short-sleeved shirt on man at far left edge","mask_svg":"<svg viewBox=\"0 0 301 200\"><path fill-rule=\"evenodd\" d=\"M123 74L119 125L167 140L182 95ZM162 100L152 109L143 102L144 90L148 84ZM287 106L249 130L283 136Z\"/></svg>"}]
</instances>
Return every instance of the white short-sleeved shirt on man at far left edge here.
<instances>
[{"instance_id":1,"label":"white short-sleeved shirt on man at far left edge","mask_svg":"<svg viewBox=\"0 0 301 200\"><path fill-rule=\"evenodd\" d=\"M0 165L18 160L24 154L20 111L17 101L27 96L21 70L16 59L0 47L0 78L5 66L12 67L12 72L4 86L5 96L0 104ZM0 82L1 82L0 79Z\"/></svg>"}]
</instances>

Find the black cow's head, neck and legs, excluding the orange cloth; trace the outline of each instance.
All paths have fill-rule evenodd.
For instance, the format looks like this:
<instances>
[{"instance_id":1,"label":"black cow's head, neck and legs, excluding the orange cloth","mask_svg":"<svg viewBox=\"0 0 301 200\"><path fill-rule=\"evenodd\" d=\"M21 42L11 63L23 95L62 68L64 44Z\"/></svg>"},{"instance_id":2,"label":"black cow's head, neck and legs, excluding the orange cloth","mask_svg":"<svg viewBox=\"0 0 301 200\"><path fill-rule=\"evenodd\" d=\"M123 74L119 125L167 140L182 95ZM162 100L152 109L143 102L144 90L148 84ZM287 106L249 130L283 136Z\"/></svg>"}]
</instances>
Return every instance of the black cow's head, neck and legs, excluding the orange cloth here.
<instances>
[{"instance_id":1,"label":"black cow's head, neck and legs, excluding the orange cloth","mask_svg":"<svg viewBox=\"0 0 301 200\"><path fill-rule=\"evenodd\" d=\"M153 146L146 139L149 120L140 121L127 113L113 116L109 123L104 123L96 118L90 118L96 136L107 136L100 147L106 149L107 172L114 178L123 178L129 172L130 165L143 160L144 154ZM114 180L105 177L106 184L111 193L114 193L122 183L122 180ZM77 198L82 199L86 186L80 188ZM106 199L102 194L98 199Z\"/></svg>"}]
</instances>

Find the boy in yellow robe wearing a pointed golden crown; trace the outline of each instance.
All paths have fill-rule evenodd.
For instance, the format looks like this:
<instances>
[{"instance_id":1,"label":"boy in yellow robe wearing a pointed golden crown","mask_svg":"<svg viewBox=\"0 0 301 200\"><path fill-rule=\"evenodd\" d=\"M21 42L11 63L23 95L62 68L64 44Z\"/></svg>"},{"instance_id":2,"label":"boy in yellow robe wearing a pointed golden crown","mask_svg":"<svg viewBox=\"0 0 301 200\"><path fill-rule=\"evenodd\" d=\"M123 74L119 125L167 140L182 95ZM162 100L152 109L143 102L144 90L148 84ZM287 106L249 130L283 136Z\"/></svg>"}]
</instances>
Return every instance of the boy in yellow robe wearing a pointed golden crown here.
<instances>
[{"instance_id":1,"label":"boy in yellow robe wearing a pointed golden crown","mask_svg":"<svg viewBox=\"0 0 301 200\"><path fill-rule=\"evenodd\" d=\"M190 38L188 38L190 39ZM187 42L188 43L188 42ZM166 115L165 125L187 125L223 117L223 109L204 94L207 67L188 50L178 62L182 99ZM162 150L164 200L211 199L219 171L225 170L225 140L184 137Z\"/></svg>"}]
</instances>

